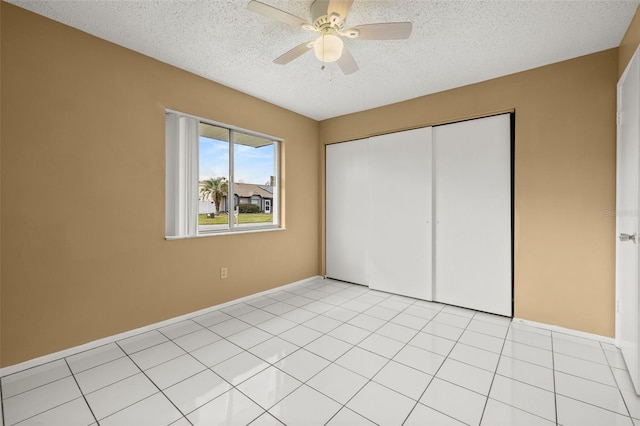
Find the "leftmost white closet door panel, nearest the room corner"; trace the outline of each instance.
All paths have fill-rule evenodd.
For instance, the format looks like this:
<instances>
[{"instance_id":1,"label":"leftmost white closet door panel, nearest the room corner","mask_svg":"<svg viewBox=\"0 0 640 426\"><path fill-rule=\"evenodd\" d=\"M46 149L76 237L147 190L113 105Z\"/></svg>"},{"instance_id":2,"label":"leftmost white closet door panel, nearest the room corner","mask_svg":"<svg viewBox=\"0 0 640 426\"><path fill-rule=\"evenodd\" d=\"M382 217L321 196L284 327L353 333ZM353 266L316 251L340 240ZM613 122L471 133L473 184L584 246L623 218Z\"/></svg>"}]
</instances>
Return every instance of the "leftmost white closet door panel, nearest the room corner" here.
<instances>
[{"instance_id":1,"label":"leftmost white closet door panel, nearest the room corner","mask_svg":"<svg viewBox=\"0 0 640 426\"><path fill-rule=\"evenodd\" d=\"M369 140L326 147L327 277L369 285Z\"/></svg>"}]
</instances>

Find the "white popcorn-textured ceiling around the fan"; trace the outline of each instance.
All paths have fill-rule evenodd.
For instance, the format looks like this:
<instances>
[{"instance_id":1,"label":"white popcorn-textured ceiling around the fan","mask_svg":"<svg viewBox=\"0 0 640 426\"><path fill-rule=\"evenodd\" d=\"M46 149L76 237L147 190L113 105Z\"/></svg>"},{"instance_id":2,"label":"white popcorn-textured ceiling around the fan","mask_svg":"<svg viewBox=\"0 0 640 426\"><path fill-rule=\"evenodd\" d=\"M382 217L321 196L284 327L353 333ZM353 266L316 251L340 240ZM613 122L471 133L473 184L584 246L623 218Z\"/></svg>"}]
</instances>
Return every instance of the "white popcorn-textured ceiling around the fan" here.
<instances>
[{"instance_id":1,"label":"white popcorn-textured ceiling around the fan","mask_svg":"<svg viewBox=\"0 0 640 426\"><path fill-rule=\"evenodd\" d=\"M310 19L312 0L261 1ZM640 3L356 0L347 26L411 21L413 33L345 40L360 66L345 76L313 53L274 64L313 34L248 0L8 2L316 120L616 47Z\"/></svg>"}]
</instances>

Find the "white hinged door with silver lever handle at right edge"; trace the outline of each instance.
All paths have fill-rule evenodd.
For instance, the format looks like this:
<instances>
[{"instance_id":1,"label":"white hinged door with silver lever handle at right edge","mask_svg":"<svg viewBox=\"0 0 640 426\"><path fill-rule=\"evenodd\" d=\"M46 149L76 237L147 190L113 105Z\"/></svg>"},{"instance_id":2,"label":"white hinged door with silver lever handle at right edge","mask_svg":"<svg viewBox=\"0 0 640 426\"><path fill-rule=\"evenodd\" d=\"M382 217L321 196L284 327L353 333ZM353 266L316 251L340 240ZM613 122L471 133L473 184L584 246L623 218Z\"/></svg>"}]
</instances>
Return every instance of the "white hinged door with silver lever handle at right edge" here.
<instances>
[{"instance_id":1,"label":"white hinged door with silver lever handle at right edge","mask_svg":"<svg viewBox=\"0 0 640 426\"><path fill-rule=\"evenodd\" d=\"M616 185L616 344L638 393L638 140L640 63L633 56L618 83ZM631 239L629 236L635 236Z\"/></svg>"}]
</instances>

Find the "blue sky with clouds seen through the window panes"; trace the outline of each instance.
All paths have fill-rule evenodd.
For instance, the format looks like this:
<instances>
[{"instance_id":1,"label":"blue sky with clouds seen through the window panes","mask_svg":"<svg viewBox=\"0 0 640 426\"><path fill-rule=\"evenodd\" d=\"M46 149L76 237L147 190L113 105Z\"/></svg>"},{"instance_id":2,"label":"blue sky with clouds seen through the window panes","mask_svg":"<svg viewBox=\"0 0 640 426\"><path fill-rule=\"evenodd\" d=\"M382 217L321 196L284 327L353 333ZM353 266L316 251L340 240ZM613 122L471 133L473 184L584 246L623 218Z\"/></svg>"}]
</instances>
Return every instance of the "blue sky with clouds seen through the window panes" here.
<instances>
[{"instance_id":1,"label":"blue sky with clouds seen through the window panes","mask_svg":"<svg viewBox=\"0 0 640 426\"><path fill-rule=\"evenodd\" d=\"M235 145L235 181L264 185L274 175L273 145L253 148ZM229 178L229 143L200 137L200 180Z\"/></svg>"}]
</instances>

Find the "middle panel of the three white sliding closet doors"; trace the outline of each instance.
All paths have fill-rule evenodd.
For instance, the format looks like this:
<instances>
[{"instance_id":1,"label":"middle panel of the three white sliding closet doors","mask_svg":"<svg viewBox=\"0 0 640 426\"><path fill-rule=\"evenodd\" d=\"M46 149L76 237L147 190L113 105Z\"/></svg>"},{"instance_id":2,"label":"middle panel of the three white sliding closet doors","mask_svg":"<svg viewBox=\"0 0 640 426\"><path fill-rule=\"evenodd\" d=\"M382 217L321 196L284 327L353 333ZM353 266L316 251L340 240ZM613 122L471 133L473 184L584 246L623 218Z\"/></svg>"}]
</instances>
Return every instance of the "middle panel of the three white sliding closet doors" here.
<instances>
[{"instance_id":1,"label":"middle panel of the three white sliding closet doors","mask_svg":"<svg viewBox=\"0 0 640 426\"><path fill-rule=\"evenodd\" d=\"M431 127L369 144L369 287L431 300Z\"/></svg>"}]
</instances>

